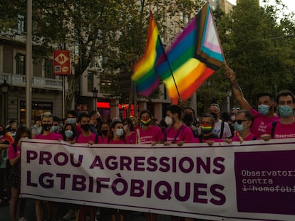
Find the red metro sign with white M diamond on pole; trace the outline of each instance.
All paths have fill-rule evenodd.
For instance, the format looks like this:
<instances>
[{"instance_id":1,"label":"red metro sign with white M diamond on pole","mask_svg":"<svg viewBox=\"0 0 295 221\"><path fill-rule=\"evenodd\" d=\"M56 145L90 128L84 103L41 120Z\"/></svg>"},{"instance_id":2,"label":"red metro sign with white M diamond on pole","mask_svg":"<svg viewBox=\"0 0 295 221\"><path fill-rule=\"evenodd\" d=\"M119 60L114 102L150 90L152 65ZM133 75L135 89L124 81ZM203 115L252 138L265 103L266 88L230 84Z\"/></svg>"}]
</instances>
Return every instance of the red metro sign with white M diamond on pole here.
<instances>
[{"instance_id":1,"label":"red metro sign with white M diamond on pole","mask_svg":"<svg viewBox=\"0 0 295 221\"><path fill-rule=\"evenodd\" d=\"M71 75L71 60L69 50L53 50L54 75Z\"/></svg>"}]
</instances>

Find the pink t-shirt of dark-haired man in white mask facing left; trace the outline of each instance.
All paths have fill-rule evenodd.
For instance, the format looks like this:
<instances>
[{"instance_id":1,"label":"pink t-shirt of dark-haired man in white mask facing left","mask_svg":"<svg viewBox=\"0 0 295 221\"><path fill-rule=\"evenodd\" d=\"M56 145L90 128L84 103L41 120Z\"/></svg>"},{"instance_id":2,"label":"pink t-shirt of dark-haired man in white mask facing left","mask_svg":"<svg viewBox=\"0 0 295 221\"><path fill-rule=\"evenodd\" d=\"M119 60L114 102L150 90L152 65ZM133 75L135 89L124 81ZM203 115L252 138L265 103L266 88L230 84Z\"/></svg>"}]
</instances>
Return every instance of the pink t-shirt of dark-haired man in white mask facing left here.
<instances>
[{"instance_id":1,"label":"pink t-shirt of dark-haired man in white mask facing left","mask_svg":"<svg viewBox=\"0 0 295 221\"><path fill-rule=\"evenodd\" d=\"M185 141L185 143L194 143L195 141L192 130L190 127L185 126L185 124L182 124L176 130L173 126L170 126L165 130L165 134L167 136L166 141L170 141L173 144L177 144L178 141Z\"/></svg>"}]
</instances>

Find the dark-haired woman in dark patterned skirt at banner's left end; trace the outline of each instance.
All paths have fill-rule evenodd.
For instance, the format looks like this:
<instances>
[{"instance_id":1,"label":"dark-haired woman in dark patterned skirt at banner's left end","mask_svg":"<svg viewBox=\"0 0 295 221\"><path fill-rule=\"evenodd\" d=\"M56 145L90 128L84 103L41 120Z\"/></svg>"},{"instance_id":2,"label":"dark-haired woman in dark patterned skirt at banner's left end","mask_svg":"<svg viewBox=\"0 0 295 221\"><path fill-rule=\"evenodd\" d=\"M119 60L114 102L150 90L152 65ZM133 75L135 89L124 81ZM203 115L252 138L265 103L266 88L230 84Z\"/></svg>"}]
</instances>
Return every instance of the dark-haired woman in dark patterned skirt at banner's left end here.
<instances>
[{"instance_id":1,"label":"dark-haired woman in dark patterned skirt at banner's left end","mask_svg":"<svg viewBox=\"0 0 295 221\"><path fill-rule=\"evenodd\" d=\"M10 144L8 148L8 158L11 168L9 170L9 186L11 188L11 201L9 205L9 212L11 221L26 220L24 218L25 199L19 198L21 190L21 140L24 138L31 139L31 131L26 126L19 126L16 130L14 143ZM19 210L18 208L19 204ZM16 212L19 211L19 215Z\"/></svg>"}]
</instances>

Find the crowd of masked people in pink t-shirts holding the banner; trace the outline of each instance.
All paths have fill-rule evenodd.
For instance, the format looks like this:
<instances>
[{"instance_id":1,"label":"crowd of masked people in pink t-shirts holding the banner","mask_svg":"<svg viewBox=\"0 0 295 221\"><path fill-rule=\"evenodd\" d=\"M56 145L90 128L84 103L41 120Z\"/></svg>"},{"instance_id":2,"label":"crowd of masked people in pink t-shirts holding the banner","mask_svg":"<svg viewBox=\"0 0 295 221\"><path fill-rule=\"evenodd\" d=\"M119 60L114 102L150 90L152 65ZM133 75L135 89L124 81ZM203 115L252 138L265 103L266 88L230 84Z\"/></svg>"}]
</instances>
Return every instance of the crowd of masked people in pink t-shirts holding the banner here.
<instances>
[{"instance_id":1,"label":"crowd of masked people in pink t-shirts holding the banner","mask_svg":"<svg viewBox=\"0 0 295 221\"><path fill-rule=\"evenodd\" d=\"M157 124L152 113L145 109L138 119L115 117L111 122L103 122L98 111L78 114L74 110L67 113L61 122L50 112L43 113L32 126L17 128L16 122L9 127L0 124L1 148L1 199L9 200L11 220L25 220L25 200L20 193L20 153L24 138L63 140L70 144L163 144L169 146L186 143L207 143L232 141L251 141L256 139L282 139L295 137L294 105L295 96L289 90L282 90L274 98L270 92L257 96L257 109L244 98L234 71L225 68L225 77L232 82L232 91L239 107L232 112L221 112L219 104L210 104L207 113L196 116L191 107L170 105L166 116ZM274 111L275 107L278 113ZM5 155L6 153L6 155ZM7 158L7 161L4 159ZM9 187L9 188L7 188ZM1 202L0 202L1 203ZM71 215L76 220L95 220L96 207L87 205L66 205L60 211L55 203L36 200L36 220L67 220ZM45 205L45 206L44 206ZM60 209L61 207L59 207ZM18 213L17 213L18 212ZM117 217L124 220L128 211L100 208L100 215L115 221ZM145 213L147 221L157 220L157 214ZM179 217L172 217L178 220ZM182 220L194 220L182 217Z\"/></svg>"}]
</instances>

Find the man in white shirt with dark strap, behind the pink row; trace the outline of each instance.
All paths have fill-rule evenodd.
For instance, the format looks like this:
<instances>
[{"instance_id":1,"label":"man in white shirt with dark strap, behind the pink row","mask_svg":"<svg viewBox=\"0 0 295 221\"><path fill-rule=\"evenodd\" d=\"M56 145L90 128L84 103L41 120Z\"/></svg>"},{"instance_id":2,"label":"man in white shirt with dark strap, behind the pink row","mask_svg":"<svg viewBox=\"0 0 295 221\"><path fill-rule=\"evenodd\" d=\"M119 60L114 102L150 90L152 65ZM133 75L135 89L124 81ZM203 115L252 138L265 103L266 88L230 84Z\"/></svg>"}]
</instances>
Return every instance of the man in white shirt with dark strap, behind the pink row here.
<instances>
[{"instance_id":1,"label":"man in white shirt with dark strap, behind the pink row","mask_svg":"<svg viewBox=\"0 0 295 221\"><path fill-rule=\"evenodd\" d=\"M209 114L211 114L215 119L215 126L213 134L216 134L218 138L229 138L232 137L232 131L227 122L223 122L220 117L220 107L218 104L211 104L208 109Z\"/></svg>"}]
</instances>

